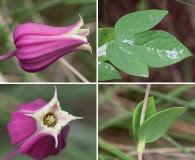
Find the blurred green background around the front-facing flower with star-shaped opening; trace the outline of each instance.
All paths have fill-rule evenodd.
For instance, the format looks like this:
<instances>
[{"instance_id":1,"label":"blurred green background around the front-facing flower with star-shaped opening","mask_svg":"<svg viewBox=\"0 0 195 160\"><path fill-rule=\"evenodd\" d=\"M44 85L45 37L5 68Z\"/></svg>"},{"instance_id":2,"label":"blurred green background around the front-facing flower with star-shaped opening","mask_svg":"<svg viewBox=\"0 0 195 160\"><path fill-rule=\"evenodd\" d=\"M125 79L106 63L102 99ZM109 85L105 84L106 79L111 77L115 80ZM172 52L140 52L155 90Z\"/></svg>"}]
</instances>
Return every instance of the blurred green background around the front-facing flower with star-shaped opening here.
<instances>
[{"instance_id":1,"label":"blurred green background around the front-facing flower with star-shaped opening","mask_svg":"<svg viewBox=\"0 0 195 160\"><path fill-rule=\"evenodd\" d=\"M70 124L67 146L57 156L47 160L95 160L96 159L96 85L95 84L58 84L58 99L63 110L72 115L84 117ZM10 84L0 85L0 159L15 147L11 145L6 125L11 113L23 102L42 98L49 102L54 94L54 85ZM22 134L22 133L21 133ZM18 155L14 160L31 159Z\"/></svg>"}]
</instances>

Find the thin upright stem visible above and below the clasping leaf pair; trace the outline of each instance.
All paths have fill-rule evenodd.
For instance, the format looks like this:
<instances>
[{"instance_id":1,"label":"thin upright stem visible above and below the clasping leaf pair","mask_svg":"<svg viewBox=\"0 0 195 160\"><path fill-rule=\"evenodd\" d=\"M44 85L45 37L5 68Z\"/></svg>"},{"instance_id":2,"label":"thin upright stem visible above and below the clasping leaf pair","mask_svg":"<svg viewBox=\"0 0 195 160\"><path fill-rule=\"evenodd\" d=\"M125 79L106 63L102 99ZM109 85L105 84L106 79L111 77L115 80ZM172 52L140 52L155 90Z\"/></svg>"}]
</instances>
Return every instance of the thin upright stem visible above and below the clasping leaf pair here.
<instances>
[{"instance_id":1,"label":"thin upright stem visible above and below the clasping leaf pair","mask_svg":"<svg viewBox=\"0 0 195 160\"><path fill-rule=\"evenodd\" d=\"M147 84L145 97L144 97L144 103L143 103L141 117L140 117L140 125L144 122L151 85L152 84ZM143 153L144 146L145 146L145 143L140 142L140 141L138 142L138 160L142 160L142 153Z\"/></svg>"}]
</instances>

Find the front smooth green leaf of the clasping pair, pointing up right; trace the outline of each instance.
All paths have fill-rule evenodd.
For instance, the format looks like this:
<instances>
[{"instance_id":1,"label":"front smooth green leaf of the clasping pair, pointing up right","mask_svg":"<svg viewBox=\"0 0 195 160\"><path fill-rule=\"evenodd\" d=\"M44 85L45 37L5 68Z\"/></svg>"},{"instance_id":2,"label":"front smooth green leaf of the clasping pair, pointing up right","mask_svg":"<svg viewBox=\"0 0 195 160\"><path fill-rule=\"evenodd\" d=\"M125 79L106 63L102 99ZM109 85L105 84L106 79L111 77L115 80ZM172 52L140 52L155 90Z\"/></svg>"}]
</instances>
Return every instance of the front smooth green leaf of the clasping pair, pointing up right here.
<instances>
[{"instance_id":1,"label":"front smooth green leaf of the clasping pair, pointing up right","mask_svg":"<svg viewBox=\"0 0 195 160\"><path fill-rule=\"evenodd\" d=\"M174 123L182 111L182 107L173 107L148 118L138 129L140 142L153 142L160 138Z\"/></svg>"}]
</instances>

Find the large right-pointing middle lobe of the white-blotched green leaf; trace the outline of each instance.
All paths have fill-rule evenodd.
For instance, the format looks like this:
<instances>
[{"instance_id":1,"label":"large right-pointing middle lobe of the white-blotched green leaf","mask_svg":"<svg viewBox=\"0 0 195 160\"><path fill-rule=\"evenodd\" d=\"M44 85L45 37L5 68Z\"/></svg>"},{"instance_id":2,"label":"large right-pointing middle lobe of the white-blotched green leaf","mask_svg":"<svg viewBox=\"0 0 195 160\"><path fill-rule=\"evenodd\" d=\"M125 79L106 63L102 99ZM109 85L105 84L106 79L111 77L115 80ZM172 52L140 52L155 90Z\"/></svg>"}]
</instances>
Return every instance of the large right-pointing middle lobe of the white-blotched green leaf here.
<instances>
[{"instance_id":1,"label":"large right-pointing middle lobe of the white-blotched green leaf","mask_svg":"<svg viewBox=\"0 0 195 160\"><path fill-rule=\"evenodd\" d=\"M131 43L130 43L131 42ZM165 67L191 56L190 51L175 37L164 31L147 31L116 42L121 45L121 54L129 54L150 67ZM128 52L127 52L128 51Z\"/></svg>"}]
</instances>

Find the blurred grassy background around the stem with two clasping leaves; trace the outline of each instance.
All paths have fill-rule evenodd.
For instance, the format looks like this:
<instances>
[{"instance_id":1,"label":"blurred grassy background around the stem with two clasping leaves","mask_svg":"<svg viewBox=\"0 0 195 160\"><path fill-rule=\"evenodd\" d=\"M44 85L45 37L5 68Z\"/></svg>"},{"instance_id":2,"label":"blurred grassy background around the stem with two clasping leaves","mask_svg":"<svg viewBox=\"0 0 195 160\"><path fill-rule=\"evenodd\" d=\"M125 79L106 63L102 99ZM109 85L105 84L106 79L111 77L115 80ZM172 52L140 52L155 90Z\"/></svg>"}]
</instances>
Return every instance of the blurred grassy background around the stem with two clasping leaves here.
<instances>
[{"instance_id":1,"label":"blurred grassy background around the stem with two clasping leaves","mask_svg":"<svg viewBox=\"0 0 195 160\"><path fill-rule=\"evenodd\" d=\"M135 107L144 99L146 84L98 87L98 159L137 159L132 117ZM183 112L163 137L146 145L143 159L194 160L195 84L152 84L150 96L154 97L158 112L170 107L183 107Z\"/></svg>"}]
</instances>

